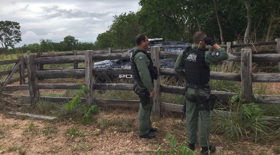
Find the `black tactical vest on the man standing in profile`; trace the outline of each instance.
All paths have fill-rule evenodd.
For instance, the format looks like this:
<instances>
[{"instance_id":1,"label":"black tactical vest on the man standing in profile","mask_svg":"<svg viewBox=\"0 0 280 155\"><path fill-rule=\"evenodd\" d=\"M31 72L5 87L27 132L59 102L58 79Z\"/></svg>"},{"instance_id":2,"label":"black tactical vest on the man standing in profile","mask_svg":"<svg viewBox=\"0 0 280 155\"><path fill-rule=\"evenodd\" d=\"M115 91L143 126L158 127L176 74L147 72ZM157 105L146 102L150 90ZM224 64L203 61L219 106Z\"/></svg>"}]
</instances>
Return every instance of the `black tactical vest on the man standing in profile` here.
<instances>
[{"instance_id":1,"label":"black tactical vest on the man standing in profile","mask_svg":"<svg viewBox=\"0 0 280 155\"><path fill-rule=\"evenodd\" d=\"M153 75L153 61L152 61L152 58L150 57L150 55L148 55L148 53L144 50L133 50L132 53L131 53L131 56L130 56L130 63L131 63L131 69L132 69L132 76L135 80L137 81L140 81L141 78L140 78L140 75L138 73L138 69L137 69L137 66L134 62L134 57L135 55L138 53L138 52L142 52L144 53L145 55L147 55L147 58L150 60L150 64L148 65L148 69L149 69L149 73L150 73L150 76L151 76L151 79L152 79L152 83L154 82L154 75Z\"/></svg>"}]
</instances>

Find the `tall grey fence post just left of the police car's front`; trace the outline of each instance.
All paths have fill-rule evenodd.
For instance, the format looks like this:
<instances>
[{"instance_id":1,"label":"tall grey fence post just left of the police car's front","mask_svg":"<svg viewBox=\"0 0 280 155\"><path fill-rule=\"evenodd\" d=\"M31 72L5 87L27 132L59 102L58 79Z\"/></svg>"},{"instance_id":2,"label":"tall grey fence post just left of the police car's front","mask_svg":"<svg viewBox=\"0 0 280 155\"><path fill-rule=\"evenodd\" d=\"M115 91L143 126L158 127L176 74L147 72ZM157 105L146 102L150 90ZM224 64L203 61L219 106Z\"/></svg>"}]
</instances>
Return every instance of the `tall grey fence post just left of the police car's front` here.
<instances>
[{"instance_id":1,"label":"tall grey fence post just left of the police car's front","mask_svg":"<svg viewBox=\"0 0 280 155\"><path fill-rule=\"evenodd\" d=\"M95 82L95 78L93 75L93 65L94 62L92 60L93 51L85 51L85 67L86 67L86 88L89 92L86 95L86 103L90 106L94 101L94 89L93 83Z\"/></svg>"}]
</instances>

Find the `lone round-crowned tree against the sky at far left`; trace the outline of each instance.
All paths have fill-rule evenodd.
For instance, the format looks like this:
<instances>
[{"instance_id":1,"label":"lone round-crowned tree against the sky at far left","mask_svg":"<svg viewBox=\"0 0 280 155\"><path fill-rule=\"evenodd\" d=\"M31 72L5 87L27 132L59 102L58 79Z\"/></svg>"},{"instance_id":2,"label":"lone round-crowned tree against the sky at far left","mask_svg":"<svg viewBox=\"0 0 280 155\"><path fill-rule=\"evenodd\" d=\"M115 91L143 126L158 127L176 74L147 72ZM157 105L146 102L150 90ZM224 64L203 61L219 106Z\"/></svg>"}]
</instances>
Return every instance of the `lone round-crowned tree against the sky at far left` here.
<instances>
[{"instance_id":1,"label":"lone round-crowned tree against the sky at far left","mask_svg":"<svg viewBox=\"0 0 280 155\"><path fill-rule=\"evenodd\" d=\"M17 22L0 21L0 43L7 54L8 47L15 47L21 41L21 26Z\"/></svg>"}]
</instances>

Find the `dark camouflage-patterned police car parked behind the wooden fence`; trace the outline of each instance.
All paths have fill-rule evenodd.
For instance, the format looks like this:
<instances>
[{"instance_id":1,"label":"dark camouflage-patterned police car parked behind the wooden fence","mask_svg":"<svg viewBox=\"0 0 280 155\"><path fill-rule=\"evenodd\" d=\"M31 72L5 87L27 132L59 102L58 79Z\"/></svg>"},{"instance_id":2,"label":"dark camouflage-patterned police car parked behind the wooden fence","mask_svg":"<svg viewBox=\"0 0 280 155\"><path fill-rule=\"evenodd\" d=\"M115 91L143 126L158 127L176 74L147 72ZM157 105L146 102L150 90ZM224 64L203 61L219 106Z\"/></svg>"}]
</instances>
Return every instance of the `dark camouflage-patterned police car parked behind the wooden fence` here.
<instances>
[{"instance_id":1,"label":"dark camouflage-patterned police car parked behind the wooden fence","mask_svg":"<svg viewBox=\"0 0 280 155\"><path fill-rule=\"evenodd\" d=\"M170 51L170 52L180 52L184 50L185 48L191 46L192 44L189 44L187 42L182 41L170 41L170 42L164 42L162 38L154 38L154 39L148 39L149 45L148 45L148 51L151 51L151 47L153 46L159 46L160 50L162 51ZM131 52L132 50L129 50L127 52ZM172 58L165 58L161 59L161 68L170 68L174 69L175 59ZM119 59L119 60L104 60L100 62L94 63L95 69L106 69L106 68L131 68L130 59ZM96 83L111 83L116 78L126 78L130 79L133 78L132 75L98 75L95 77Z\"/></svg>"}]
</instances>

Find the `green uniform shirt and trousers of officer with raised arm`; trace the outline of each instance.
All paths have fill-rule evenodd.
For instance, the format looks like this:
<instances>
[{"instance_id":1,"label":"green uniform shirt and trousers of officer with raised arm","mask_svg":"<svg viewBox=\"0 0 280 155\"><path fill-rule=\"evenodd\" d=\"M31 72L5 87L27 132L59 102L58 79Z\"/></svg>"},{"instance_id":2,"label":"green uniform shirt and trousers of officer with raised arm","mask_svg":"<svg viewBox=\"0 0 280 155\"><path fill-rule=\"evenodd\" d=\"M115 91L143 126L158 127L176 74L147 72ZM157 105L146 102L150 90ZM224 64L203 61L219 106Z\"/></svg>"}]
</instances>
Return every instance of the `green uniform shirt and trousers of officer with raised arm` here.
<instances>
[{"instance_id":1,"label":"green uniform shirt and trousers of officer with raised arm","mask_svg":"<svg viewBox=\"0 0 280 155\"><path fill-rule=\"evenodd\" d=\"M197 49L198 46L192 45L193 49ZM228 55L225 52L224 48L217 49L216 52L219 52L219 55L212 55L212 52L205 52L205 63L209 67L212 63L218 63L228 59ZM184 77L184 64L183 64L183 53L181 52L178 56L174 69L180 77ZM205 96L207 97L210 91L198 90L198 97ZM194 99L194 89L187 88L186 94L187 98ZM199 121L198 121L199 117ZM199 136L199 145L201 147L208 146L209 134L210 134L210 110L201 110L198 111L196 102L189 102L186 100L186 129L187 137L190 143L197 142L197 126L198 126L198 136Z\"/></svg>"}]
</instances>

